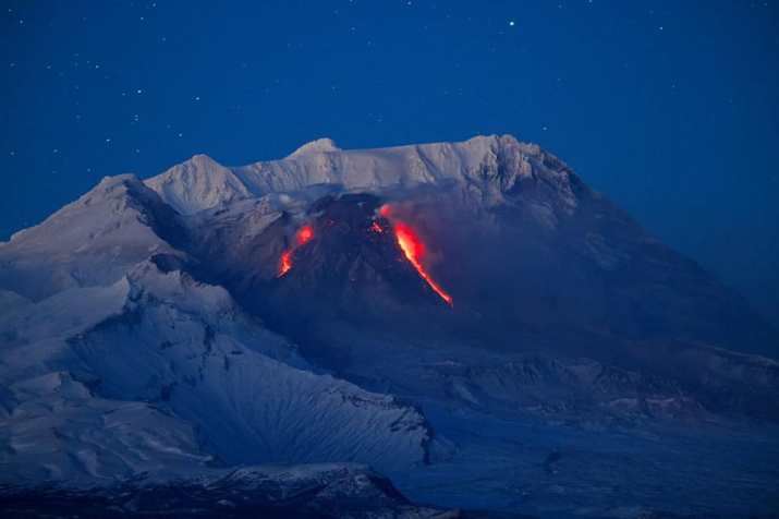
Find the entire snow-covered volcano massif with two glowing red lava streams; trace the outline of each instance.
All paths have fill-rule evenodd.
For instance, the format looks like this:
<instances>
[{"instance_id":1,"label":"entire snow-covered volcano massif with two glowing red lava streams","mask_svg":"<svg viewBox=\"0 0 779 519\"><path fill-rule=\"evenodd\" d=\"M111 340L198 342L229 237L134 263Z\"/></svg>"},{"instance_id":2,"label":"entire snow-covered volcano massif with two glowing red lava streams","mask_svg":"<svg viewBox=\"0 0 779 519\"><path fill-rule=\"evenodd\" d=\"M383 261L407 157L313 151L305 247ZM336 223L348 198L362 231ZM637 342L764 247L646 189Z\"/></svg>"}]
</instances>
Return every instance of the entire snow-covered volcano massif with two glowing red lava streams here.
<instances>
[{"instance_id":1,"label":"entire snow-covered volcano massif with two glowing red lava streams","mask_svg":"<svg viewBox=\"0 0 779 519\"><path fill-rule=\"evenodd\" d=\"M776 512L778 358L536 145L198 155L0 244L0 506Z\"/></svg>"}]
</instances>

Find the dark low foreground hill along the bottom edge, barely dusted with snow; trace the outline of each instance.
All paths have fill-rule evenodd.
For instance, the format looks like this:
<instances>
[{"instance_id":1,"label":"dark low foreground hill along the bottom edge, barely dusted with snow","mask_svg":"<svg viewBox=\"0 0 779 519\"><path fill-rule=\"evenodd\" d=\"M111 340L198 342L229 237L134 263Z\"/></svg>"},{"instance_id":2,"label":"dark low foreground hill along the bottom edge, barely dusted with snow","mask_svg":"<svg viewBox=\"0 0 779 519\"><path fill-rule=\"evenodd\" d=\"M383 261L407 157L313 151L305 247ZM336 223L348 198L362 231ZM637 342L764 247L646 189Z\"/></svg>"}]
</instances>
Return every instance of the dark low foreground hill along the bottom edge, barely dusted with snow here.
<instances>
[{"instance_id":1,"label":"dark low foreground hill along the bottom edge, barely dusted with snow","mask_svg":"<svg viewBox=\"0 0 779 519\"><path fill-rule=\"evenodd\" d=\"M460 510L414 506L376 471L354 464L211 470L188 480L147 472L118 487L0 488L13 516L154 515L155 517L453 519Z\"/></svg>"}]
</instances>

